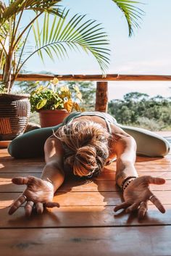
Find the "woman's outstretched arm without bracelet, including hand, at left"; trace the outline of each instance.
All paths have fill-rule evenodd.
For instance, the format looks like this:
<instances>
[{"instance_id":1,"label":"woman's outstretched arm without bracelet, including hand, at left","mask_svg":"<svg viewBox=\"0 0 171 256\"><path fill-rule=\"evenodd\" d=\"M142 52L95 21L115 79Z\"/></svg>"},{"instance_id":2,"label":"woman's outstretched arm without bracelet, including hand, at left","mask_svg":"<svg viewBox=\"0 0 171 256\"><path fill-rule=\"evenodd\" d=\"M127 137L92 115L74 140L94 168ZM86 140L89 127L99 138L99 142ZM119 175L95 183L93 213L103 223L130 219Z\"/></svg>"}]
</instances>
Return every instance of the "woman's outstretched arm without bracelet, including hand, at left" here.
<instances>
[{"instance_id":1,"label":"woman's outstretched arm without bracelet, including hand, at left","mask_svg":"<svg viewBox=\"0 0 171 256\"><path fill-rule=\"evenodd\" d=\"M9 214L13 214L25 201L25 215L30 216L33 206L39 214L45 207L59 207L59 204L52 202L54 192L64 181L63 172L63 149L60 141L56 138L49 138L44 146L46 165L43 168L41 178L28 176L25 178L13 178L12 182L18 185L25 184L27 188L23 194L15 200Z\"/></svg>"}]
</instances>

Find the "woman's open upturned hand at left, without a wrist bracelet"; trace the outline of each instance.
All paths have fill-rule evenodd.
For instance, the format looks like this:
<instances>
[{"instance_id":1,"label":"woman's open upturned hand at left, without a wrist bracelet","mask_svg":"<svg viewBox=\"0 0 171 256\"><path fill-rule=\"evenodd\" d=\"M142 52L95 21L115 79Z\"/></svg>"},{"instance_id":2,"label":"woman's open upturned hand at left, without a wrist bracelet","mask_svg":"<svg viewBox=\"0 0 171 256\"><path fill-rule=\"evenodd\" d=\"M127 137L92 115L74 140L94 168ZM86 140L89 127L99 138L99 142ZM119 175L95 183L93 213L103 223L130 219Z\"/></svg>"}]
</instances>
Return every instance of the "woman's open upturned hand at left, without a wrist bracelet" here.
<instances>
[{"instance_id":1,"label":"woman's open upturned hand at left, without a wrist bracelet","mask_svg":"<svg viewBox=\"0 0 171 256\"><path fill-rule=\"evenodd\" d=\"M29 217L35 205L38 214L43 212L44 207L59 207L57 202L52 202L54 197L54 186L49 181L41 178L28 176L25 178L12 178L12 182L17 185L27 185L27 188L11 205L9 214L12 215L22 204L25 205L25 215Z\"/></svg>"}]
</instances>

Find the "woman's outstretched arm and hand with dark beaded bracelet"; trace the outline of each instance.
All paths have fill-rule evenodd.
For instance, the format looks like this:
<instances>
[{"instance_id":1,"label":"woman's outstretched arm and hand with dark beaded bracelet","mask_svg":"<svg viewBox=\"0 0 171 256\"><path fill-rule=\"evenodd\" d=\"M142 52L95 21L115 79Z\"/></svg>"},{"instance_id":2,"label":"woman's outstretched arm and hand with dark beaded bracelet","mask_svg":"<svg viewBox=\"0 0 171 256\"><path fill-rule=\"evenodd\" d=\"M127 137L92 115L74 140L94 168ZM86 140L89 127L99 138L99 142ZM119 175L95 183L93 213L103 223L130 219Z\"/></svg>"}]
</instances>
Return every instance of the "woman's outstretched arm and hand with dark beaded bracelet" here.
<instances>
[{"instance_id":1,"label":"woman's outstretched arm and hand with dark beaded bracelet","mask_svg":"<svg viewBox=\"0 0 171 256\"><path fill-rule=\"evenodd\" d=\"M149 184L163 184L164 178L153 178L151 176L138 177L135 170L135 141L131 136L127 136L117 141L115 152L117 154L117 185L123 190L125 202L117 205L114 211L125 208L126 212L138 209L138 218L143 218L147 210L147 202L150 200L164 213L164 207L159 199L149 189Z\"/></svg>"}]
</instances>

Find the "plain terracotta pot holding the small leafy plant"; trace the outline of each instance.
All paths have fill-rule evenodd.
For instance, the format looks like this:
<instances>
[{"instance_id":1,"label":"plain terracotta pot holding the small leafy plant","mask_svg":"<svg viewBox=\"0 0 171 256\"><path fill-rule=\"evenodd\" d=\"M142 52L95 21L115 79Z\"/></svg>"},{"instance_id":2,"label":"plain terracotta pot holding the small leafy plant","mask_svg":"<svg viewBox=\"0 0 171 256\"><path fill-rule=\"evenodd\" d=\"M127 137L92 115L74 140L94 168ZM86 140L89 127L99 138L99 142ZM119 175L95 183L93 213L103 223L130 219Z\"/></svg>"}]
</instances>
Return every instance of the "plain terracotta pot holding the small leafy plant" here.
<instances>
[{"instance_id":1,"label":"plain terracotta pot holding the small leafy plant","mask_svg":"<svg viewBox=\"0 0 171 256\"><path fill-rule=\"evenodd\" d=\"M70 115L67 110L40 110L38 113L42 128L59 125L65 117Z\"/></svg>"}]
</instances>

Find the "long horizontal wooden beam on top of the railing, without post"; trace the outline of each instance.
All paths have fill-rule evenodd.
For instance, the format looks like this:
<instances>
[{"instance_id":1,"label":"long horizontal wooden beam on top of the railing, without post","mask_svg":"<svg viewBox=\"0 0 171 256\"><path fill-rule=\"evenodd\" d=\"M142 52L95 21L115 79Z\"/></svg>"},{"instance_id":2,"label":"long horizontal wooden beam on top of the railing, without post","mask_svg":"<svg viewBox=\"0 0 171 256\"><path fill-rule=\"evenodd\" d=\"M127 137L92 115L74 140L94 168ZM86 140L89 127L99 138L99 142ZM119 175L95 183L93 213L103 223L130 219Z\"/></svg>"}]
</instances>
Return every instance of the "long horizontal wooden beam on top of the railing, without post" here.
<instances>
[{"instance_id":1,"label":"long horizontal wooden beam on top of the railing, without post","mask_svg":"<svg viewBox=\"0 0 171 256\"><path fill-rule=\"evenodd\" d=\"M0 75L0 80L2 75ZM106 77L102 75L46 75L46 74L19 74L16 80L51 80L58 78L59 80L96 80L96 81L170 81L171 75L118 75L108 74Z\"/></svg>"}]
</instances>

